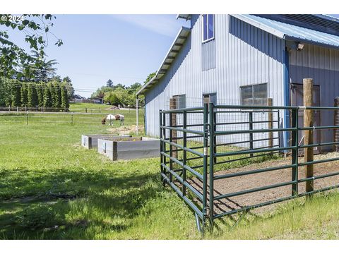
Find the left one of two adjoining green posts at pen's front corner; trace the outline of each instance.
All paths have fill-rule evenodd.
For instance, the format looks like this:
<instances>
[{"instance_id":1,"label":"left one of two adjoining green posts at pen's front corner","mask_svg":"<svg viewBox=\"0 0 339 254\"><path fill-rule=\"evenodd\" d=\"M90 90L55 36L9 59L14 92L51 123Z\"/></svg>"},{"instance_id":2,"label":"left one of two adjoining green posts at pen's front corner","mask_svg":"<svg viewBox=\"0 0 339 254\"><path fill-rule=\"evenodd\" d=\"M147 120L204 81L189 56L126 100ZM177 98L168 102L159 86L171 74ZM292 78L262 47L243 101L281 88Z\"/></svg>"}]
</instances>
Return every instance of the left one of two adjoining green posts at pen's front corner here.
<instances>
[{"instance_id":1,"label":"left one of two adjoining green posts at pen's front corner","mask_svg":"<svg viewBox=\"0 0 339 254\"><path fill-rule=\"evenodd\" d=\"M206 224L208 164L208 104L203 104L203 229Z\"/></svg>"}]
</instances>

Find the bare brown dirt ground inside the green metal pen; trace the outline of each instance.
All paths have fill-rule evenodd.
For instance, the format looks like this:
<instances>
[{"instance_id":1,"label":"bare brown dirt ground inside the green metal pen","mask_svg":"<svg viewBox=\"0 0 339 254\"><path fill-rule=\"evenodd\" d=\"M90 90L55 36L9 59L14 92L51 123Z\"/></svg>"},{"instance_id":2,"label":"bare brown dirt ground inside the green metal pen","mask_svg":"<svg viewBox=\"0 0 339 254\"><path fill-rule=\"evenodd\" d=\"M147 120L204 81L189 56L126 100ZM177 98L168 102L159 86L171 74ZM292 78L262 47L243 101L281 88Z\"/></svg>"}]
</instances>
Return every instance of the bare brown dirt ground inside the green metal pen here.
<instances>
[{"instance_id":1,"label":"bare brown dirt ground inside the green metal pen","mask_svg":"<svg viewBox=\"0 0 339 254\"><path fill-rule=\"evenodd\" d=\"M331 152L326 155L315 155L314 160L316 159L326 159L326 158L335 158L339 157L338 152ZM299 157L299 162L304 162L304 157ZM227 169L225 171L215 172L215 176L223 174L231 174L241 171L249 171L254 169L265 169L268 167L278 167L283 165L291 164L291 158L287 157L285 159L278 159L258 164L251 164L246 167L239 167L235 169ZM314 164L314 176L319 176L323 174L328 174L331 172L336 172L339 169L339 161L335 162L326 162L320 164ZM306 177L306 167L299 167L298 172L299 179ZM268 186L275 183L283 183L287 181L292 181L292 168L280 169L277 171L269 171L258 174L251 174L247 176L237 176L230 179L220 179L214 181L214 195L221 195L227 193L234 193L237 191L249 190L251 188L258 188L263 186ZM194 188L202 193L202 182L199 179L191 179L190 183ZM319 188L325 188L329 186L334 186L339 184L339 176L331 176L324 179L317 179L314 181L314 190ZM306 188L306 183L299 183L299 193L304 193ZM208 186L209 188L209 186ZM275 200L278 198L285 198L290 196L292 193L292 186L283 186L279 188L272 188L266 191L259 191L255 193L248 193L244 195L234 196L232 198L224 198L222 200L215 200L214 202L214 212L215 214L220 214L222 212L236 210L247 205L255 205L261 202L266 202L270 200ZM209 194L208 194L209 195ZM268 205L264 207L259 207L253 210L256 214L261 214L263 212L268 212L273 210L275 205Z\"/></svg>"}]
</instances>

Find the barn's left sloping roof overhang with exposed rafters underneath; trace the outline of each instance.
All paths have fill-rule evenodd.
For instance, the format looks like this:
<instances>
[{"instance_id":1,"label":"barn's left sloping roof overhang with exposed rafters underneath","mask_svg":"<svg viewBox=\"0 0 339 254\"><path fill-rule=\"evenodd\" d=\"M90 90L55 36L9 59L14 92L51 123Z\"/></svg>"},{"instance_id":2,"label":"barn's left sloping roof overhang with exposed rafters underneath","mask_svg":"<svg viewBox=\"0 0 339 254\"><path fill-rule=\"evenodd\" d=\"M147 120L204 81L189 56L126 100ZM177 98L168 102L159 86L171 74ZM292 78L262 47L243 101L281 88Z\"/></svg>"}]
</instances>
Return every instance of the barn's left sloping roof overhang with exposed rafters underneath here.
<instances>
[{"instance_id":1,"label":"barn's left sloping roof overhang with exposed rafters underneath","mask_svg":"<svg viewBox=\"0 0 339 254\"><path fill-rule=\"evenodd\" d=\"M185 27L182 27L179 30L177 37L175 37L175 40L169 48L165 59L160 64L160 67L157 69L155 76L150 81L148 81L148 83L143 85L143 87L141 87L141 89L136 92L136 95L143 95L145 92L147 92L147 90L156 85L156 83L167 73L169 68L172 66L174 59L176 59L180 50L184 46L184 42L186 42L190 32L191 29Z\"/></svg>"}]
</instances>

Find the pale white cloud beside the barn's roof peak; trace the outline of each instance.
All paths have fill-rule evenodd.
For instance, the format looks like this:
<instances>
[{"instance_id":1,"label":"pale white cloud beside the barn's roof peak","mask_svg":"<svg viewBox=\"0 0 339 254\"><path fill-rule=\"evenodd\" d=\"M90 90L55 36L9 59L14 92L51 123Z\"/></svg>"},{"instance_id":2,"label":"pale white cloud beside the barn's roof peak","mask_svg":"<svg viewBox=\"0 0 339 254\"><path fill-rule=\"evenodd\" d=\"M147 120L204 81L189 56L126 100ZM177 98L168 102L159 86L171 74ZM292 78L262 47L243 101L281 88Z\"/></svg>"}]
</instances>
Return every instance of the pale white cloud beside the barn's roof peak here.
<instances>
[{"instance_id":1,"label":"pale white cloud beside the barn's roof peak","mask_svg":"<svg viewBox=\"0 0 339 254\"><path fill-rule=\"evenodd\" d=\"M160 35L174 37L182 25L175 15L114 15L114 18L156 32Z\"/></svg>"}]
</instances>

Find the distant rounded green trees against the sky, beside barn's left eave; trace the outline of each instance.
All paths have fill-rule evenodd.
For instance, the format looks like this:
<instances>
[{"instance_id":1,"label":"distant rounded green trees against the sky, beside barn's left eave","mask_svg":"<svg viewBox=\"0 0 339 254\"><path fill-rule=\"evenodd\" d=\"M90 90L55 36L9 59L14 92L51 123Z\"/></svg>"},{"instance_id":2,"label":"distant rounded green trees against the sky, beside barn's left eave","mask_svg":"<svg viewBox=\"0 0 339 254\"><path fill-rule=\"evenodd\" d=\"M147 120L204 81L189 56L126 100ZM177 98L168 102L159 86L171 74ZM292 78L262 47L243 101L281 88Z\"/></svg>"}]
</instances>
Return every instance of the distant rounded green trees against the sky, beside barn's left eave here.
<instances>
[{"instance_id":1,"label":"distant rounded green trees against the sky, beside barn's left eave","mask_svg":"<svg viewBox=\"0 0 339 254\"><path fill-rule=\"evenodd\" d=\"M150 73L146 78L145 83L153 78L155 73ZM134 83L130 86L125 86L122 84L114 85L112 80L107 80L105 86L100 87L96 92L93 92L91 98L102 98L104 102L109 102L109 104L122 107L136 107L136 92L141 89L143 85L141 83ZM145 99L143 96L139 97L139 106L143 107L145 105Z\"/></svg>"}]
</instances>

